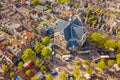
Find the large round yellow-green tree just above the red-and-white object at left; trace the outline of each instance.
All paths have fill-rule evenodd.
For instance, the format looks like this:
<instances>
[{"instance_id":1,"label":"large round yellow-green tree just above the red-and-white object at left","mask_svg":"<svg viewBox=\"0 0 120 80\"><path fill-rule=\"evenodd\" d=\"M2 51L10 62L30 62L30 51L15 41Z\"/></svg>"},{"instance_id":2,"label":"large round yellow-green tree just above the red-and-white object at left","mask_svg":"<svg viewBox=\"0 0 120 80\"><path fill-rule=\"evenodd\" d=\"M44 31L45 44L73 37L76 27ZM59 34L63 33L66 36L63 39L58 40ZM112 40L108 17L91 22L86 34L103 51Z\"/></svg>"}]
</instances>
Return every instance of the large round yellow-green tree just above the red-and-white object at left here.
<instances>
[{"instance_id":1,"label":"large round yellow-green tree just above the red-and-white object at left","mask_svg":"<svg viewBox=\"0 0 120 80\"><path fill-rule=\"evenodd\" d=\"M36 57L35 52L30 48L26 49L22 55L22 59L24 62L34 60L35 57Z\"/></svg>"}]
</instances>

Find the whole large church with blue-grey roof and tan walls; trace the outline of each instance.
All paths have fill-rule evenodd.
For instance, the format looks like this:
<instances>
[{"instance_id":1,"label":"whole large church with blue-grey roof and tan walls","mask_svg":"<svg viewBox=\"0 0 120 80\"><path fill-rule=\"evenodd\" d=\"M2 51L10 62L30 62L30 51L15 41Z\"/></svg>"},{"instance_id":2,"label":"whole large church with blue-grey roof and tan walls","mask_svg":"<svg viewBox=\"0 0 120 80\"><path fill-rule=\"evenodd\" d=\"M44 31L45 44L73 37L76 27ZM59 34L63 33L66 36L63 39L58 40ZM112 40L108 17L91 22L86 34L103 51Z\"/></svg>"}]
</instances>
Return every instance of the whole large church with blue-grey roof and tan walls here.
<instances>
[{"instance_id":1,"label":"whole large church with blue-grey roof and tan walls","mask_svg":"<svg viewBox=\"0 0 120 80\"><path fill-rule=\"evenodd\" d=\"M81 47L86 41L86 29L82 22L73 19L70 22L58 20L54 27L54 42L63 49Z\"/></svg>"}]
</instances>

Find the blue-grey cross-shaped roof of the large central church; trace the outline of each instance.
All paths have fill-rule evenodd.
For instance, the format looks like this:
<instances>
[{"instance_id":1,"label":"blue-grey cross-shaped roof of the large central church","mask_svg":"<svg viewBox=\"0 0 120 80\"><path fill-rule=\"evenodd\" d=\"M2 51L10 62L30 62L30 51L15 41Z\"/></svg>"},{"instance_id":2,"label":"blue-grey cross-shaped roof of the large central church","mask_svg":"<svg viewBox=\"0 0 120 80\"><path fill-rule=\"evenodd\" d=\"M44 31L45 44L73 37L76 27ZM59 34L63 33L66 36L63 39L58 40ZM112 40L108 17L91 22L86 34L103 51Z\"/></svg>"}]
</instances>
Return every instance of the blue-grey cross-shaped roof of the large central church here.
<instances>
[{"instance_id":1,"label":"blue-grey cross-shaped roof of the large central church","mask_svg":"<svg viewBox=\"0 0 120 80\"><path fill-rule=\"evenodd\" d=\"M62 32L64 34L64 38L67 41L67 47L79 46L77 40L81 40L83 34L86 32L85 28L83 28L82 23L75 19L73 22L67 22L64 20L59 20L55 24L55 29Z\"/></svg>"}]
</instances>

